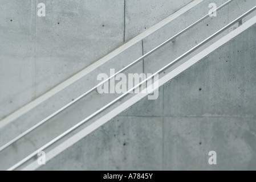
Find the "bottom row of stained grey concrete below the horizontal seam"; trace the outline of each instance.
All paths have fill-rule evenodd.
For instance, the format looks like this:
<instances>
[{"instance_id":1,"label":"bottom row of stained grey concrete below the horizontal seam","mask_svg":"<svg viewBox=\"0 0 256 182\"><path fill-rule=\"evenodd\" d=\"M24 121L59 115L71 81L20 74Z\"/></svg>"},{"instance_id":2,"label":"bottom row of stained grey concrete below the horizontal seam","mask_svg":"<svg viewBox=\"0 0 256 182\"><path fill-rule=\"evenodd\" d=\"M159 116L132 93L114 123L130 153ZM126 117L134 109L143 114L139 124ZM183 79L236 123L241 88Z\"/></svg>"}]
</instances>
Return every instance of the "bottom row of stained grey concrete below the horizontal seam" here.
<instances>
[{"instance_id":1,"label":"bottom row of stained grey concrete below the horizontal seam","mask_svg":"<svg viewBox=\"0 0 256 182\"><path fill-rule=\"evenodd\" d=\"M39 170L253 170L255 128L246 117L116 117Z\"/></svg>"}]
</instances>

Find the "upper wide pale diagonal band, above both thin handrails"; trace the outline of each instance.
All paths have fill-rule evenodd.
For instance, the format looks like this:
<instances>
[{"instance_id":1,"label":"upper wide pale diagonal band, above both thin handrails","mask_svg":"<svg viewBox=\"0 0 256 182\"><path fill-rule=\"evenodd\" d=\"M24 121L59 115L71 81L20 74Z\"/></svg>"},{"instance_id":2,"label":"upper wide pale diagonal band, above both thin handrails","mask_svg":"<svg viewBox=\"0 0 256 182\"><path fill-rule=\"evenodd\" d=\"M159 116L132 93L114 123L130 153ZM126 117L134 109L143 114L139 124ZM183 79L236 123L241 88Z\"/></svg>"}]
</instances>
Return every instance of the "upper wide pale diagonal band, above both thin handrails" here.
<instances>
[{"instance_id":1,"label":"upper wide pale diagonal band, above both thin handrails","mask_svg":"<svg viewBox=\"0 0 256 182\"><path fill-rule=\"evenodd\" d=\"M66 81L62 82L61 84L55 86L48 92L44 93L42 96L36 98L34 101L30 102L29 104L26 104L25 106L21 107L21 109L18 109L17 111L14 111L14 113L8 115L6 118L3 118L2 121L0 121L0 128L7 125L11 121L14 121L18 117L21 117L21 115L27 113L34 107L38 106L42 102L46 101L48 98L54 96L56 93L59 93L61 90L65 89L67 86L73 84L74 82L78 81L80 78L86 76L88 73L94 71L97 67L100 67L100 65L103 65L107 61L111 60L113 57L119 55L121 52L125 51L129 47L133 46L137 42L140 42L145 37L151 35L153 32L159 30L161 27L165 26L166 24L172 22L172 20L178 18L178 16L184 14L186 11L192 9L194 6L198 5L204 0L194 0L190 2L185 7L182 7L182 9L178 10L176 13L168 16L168 18L165 18L161 22L155 24L155 26L149 28L148 30L144 31L143 33L137 35L132 40L129 40L129 42L123 44L123 46L120 46L119 48L115 49L108 55L104 56L100 60L96 61L95 63L89 65L87 68L83 69L83 71L80 71L79 73L76 73L76 75L68 78Z\"/></svg>"}]
</instances>

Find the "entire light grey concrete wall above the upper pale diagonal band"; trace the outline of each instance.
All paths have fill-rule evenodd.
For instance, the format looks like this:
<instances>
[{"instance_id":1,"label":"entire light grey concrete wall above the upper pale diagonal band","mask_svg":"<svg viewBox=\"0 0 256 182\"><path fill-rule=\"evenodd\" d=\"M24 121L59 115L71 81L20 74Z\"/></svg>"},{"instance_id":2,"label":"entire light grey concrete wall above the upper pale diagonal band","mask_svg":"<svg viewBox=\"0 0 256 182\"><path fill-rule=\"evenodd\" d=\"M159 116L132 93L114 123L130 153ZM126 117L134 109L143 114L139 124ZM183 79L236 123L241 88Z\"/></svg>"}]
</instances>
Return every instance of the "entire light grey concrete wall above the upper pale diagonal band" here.
<instances>
[{"instance_id":1,"label":"entire light grey concrete wall above the upper pale diagonal band","mask_svg":"<svg viewBox=\"0 0 256 182\"><path fill-rule=\"evenodd\" d=\"M191 1L3 0L0 119Z\"/></svg>"}]
</instances>

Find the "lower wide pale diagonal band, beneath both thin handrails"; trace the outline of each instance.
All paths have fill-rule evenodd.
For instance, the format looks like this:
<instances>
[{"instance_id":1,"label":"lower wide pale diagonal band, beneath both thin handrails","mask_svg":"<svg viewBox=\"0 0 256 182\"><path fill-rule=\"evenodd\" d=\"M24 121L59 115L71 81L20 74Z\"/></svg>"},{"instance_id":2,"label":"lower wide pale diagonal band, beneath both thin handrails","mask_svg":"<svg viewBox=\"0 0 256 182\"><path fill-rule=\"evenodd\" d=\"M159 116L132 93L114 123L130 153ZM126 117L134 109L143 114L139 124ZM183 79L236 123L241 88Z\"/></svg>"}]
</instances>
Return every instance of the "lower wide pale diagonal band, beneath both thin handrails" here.
<instances>
[{"instance_id":1,"label":"lower wide pale diagonal band, beneath both thin handrails","mask_svg":"<svg viewBox=\"0 0 256 182\"><path fill-rule=\"evenodd\" d=\"M179 67L175 68L173 71L168 73L166 76L160 78L159 80L159 87L164 85L167 81L170 79L176 77L179 75L181 72L185 71L192 65L196 64L198 61L202 60L205 56L209 55L213 51L215 51L217 48L223 46L225 43L229 42L229 40L235 38L235 36L241 34L241 32L247 30L247 28L253 26L256 23L256 16L248 20L246 23L244 23L242 26L238 27L234 31L230 32L229 34L225 35L223 38L220 40L217 40L217 42L213 43L210 45L208 48L205 48L203 51L198 53L197 55L193 56L191 59L180 65ZM104 123L107 123L110 119L115 117L116 115L120 114L121 111L127 109L128 107L132 106L135 104L137 101L141 100L143 97L147 96L148 94L136 94L133 96L131 99L128 101L125 101L123 104L120 106L117 106L115 109L110 111L109 113L105 114L103 117L100 119L97 119L94 123L91 123L91 125L87 126L85 129L82 131L79 131L79 133L76 133L74 136L71 138L68 138L66 141L63 143L59 144L56 146L54 149L52 149L50 152L47 153L47 161L51 160L60 152L66 150L68 147L71 147L74 143L78 142L82 138L86 137L88 134L92 133L92 131L95 131L97 128L100 126L104 125ZM39 168L40 166L38 163L32 162L22 170L35 170Z\"/></svg>"}]
</instances>

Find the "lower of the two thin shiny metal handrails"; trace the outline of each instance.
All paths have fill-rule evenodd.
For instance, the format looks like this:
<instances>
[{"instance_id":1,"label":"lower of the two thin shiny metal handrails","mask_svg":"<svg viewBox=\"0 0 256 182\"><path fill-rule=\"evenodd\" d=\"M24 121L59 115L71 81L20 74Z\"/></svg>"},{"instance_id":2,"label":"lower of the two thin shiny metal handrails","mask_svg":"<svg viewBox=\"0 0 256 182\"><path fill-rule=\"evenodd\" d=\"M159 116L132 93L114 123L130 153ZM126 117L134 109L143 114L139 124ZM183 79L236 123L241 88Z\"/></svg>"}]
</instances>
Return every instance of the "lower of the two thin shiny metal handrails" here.
<instances>
[{"instance_id":1,"label":"lower of the two thin shiny metal handrails","mask_svg":"<svg viewBox=\"0 0 256 182\"><path fill-rule=\"evenodd\" d=\"M245 14L239 16L237 19L233 20L233 22L227 24L225 27L221 28L221 30L217 31L216 33L214 33L213 35L211 35L209 38L205 39L204 41L202 41L200 44L198 44L197 46L193 47L192 49L190 49L189 51L185 52L183 55L181 55L180 57L178 57L177 59L173 60L172 62L170 62L169 64L167 64L165 67L161 68L159 71L157 71L156 73L154 73L152 76L148 77L147 79L145 79L144 81L140 82L140 84L136 85L135 87L133 87L132 89L128 90L126 93L124 93L123 95L121 95L120 97L116 98L115 100L113 100L112 102L110 102L109 104L105 105L104 107L102 107L101 109L97 110L94 114L90 115L89 117L87 117L86 119L84 119L83 121L79 122L78 124L76 124L75 126L71 127L69 130L65 131L63 134L59 135L58 137L56 137L55 139L51 140L51 142L48 142L47 144L45 144L43 147L39 148L38 150L34 151L32 154L30 154L29 156L27 156L25 159L21 160L20 162L18 162L17 164L15 164L13 167L9 168L8 170L14 170L16 168L18 168L19 166L21 166L23 163L27 162L27 160L31 159L32 157L34 157L35 155L38 154L38 152L45 150L47 147L51 146L52 144L54 144L55 142L57 142L59 139L65 137L67 134L71 133L72 131L74 131L75 129L77 129L79 126L83 125L86 121L88 121L89 119L91 119L92 117L94 117L95 115L99 114L101 111L107 109L109 106L111 106L112 104L114 104L115 102L119 101L121 98L123 98L124 96L126 96L129 92L132 92L134 89L136 89L137 87L139 87L140 85L144 84L146 81L148 81L149 79L152 79L152 77L155 77L157 74L161 73L162 71L164 71L165 69L169 68L170 66L172 66L173 64L177 63L178 61L180 61L181 59L183 59L184 57L190 55L190 53L196 51L198 48L204 46L206 43L208 43L210 40L216 38L216 36L220 35L222 32L224 32L225 30L227 30L228 28L230 28L231 26L233 26L235 23L238 23L239 20L242 20L243 18L245 18L245 16L253 13L253 11L256 10L256 6L254 6L252 9L250 9L249 11L247 11Z\"/></svg>"}]
</instances>

